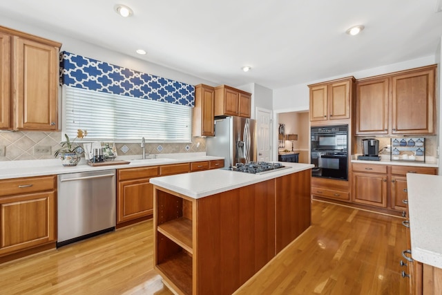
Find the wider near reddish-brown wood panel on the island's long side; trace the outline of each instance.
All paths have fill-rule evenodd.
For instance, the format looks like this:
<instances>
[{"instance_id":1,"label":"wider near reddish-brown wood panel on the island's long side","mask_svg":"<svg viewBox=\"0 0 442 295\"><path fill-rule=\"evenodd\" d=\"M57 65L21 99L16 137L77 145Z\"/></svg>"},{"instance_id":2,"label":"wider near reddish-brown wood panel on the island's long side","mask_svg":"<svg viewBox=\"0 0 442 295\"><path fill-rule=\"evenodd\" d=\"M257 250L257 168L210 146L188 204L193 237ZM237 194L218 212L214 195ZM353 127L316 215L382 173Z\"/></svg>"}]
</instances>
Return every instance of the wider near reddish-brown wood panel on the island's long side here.
<instances>
[{"instance_id":1,"label":"wider near reddish-brown wood panel on the island's long side","mask_svg":"<svg viewBox=\"0 0 442 295\"><path fill-rule=\"evenodd\" d=\"M274 193L267 180L198 200L198 294L232 294L273 258Z\"/></svg>"}]
</instances>

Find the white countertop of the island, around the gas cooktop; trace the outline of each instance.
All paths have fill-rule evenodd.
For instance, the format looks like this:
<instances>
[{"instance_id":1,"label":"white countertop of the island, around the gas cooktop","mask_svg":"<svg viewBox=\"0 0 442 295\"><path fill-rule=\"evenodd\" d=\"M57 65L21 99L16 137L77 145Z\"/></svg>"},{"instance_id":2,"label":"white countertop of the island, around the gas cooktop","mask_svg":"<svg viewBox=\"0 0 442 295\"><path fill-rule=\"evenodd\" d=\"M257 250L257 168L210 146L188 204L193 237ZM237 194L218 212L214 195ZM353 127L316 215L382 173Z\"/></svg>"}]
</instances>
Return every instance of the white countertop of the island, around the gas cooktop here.
<instances>
[{"instance_id":1,"label":"white countertop of the island, around the gas cooktop","mask_svg":"<svg viewBox=\"0 0 442 295\"><path fill-rule=\"evenodd\" d=\"M283 164L284 166L289 166L290 168L280 169L261 175L224 169L214 169L209 171L151 178L150 182L158 187L170 189L171 191L181 193L184 196L198 199L211 196L215 193L222 193L223 191L238 189L239 187L245 187L250 184L278 178L283 175L296 173L314 167L312 164L291 162L283 162Z\"/></svg>"}]
</instances>

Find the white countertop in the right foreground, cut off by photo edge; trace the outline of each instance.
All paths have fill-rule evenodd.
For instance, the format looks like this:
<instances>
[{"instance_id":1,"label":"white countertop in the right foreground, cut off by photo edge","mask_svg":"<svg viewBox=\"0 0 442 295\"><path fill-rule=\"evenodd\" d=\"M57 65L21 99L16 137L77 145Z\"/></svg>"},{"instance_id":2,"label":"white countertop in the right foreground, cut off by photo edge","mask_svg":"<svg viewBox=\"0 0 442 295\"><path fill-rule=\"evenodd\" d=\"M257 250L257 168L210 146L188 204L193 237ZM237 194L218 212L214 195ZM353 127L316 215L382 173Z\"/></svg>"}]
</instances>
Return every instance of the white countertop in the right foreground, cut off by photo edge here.
<instances>
[{"instance_id":1,"label":"white countertop in the right foreground, cut off by photo edge","mask_svg":"<svg viewBox=\"0 0 442 295\"><path fill-rule=\"evenodd\" d=\"M442 268L442 176L407 173L412 258Z\"/></svg>"}]
</instances>

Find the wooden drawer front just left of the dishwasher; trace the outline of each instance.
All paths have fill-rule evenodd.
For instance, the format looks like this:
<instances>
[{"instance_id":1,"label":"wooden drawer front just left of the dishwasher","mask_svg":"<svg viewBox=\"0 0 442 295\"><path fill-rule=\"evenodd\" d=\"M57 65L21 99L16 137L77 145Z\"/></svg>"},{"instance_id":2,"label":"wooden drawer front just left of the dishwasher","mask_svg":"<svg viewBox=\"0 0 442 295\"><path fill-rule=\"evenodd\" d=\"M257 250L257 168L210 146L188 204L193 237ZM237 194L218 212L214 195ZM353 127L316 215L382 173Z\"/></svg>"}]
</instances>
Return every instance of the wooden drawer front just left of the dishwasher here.
<instances>
[{"instance_id":1,"label":"wooden drawer front just left of the dishwasher","mask_svg":"<svg viewBox=\"0 0 442 295\"><path fill-rule=\"evenodd\" d=\"M0 181L0 196L11 196L35 191L50 191L57 186L55 175L32 178L15 178Z\"/></svg>"}]
</instances>

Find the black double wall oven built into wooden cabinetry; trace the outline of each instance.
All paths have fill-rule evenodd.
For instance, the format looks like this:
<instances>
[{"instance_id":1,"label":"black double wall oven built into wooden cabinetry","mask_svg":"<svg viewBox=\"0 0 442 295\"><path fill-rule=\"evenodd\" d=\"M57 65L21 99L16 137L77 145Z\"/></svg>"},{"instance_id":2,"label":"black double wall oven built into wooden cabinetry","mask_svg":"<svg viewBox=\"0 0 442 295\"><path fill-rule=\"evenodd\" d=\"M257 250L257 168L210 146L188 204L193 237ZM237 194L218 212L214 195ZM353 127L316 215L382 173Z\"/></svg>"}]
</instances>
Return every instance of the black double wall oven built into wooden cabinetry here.
<instances>
[{"instance_id":1,"label":"black double wall oven built into wooden cabinetry","mask_svg":"<svg viewBox=\"0 0 442 295\"><path fill-rule=\"evenodd\" d=\"M311 175L348 180L348 125L314 126L311 136Z\"/></svg>"}]
</instances>

